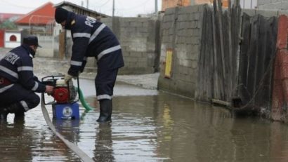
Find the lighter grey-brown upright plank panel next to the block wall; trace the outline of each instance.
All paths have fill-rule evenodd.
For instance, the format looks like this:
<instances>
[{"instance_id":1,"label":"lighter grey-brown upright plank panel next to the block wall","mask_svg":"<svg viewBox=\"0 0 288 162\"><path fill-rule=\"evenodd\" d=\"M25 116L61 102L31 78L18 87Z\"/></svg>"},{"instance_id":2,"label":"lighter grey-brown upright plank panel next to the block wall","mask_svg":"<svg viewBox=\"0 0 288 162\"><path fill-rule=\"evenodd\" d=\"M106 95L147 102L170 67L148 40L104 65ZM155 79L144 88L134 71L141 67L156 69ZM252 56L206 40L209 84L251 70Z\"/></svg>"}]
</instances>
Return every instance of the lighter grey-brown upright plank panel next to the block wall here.
<instances>
[{"instance_id":1,"label":"lighter grey-brown upright plank panel next to the block wall","mask_svg":"<svg viewBox=\"0 0 288 162\"><path fill-rule=\"evenodd\" d=\"M238 4L237 4L238 3ZM241 23L239 1L222 11L221 1L205 7L198 63L196 99L230 102L236 93Z\"/></svg>"}]
</instances>

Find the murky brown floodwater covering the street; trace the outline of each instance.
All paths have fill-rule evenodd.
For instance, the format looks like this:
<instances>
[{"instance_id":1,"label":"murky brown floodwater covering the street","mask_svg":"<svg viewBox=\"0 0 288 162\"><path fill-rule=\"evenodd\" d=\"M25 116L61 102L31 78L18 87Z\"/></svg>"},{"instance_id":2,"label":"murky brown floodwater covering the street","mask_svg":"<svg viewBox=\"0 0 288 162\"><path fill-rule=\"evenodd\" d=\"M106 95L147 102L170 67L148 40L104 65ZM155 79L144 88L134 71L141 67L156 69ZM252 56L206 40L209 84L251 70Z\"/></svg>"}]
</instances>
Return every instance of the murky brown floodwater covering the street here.
<instances>
[{"instance_id":1,"label":"murky brown floodwater covering the street","mask_svg":"<svg viewBox=\"0 0 288 162\"><path fill-rule=\"evenodd\" d=\"M94 161L288 161L288 127L185 97L117 83L112 123L99 124L93 81L82 80L80 120L53 120ZM52 110L47 106L52 117ZM0 123L1 161L81 161L48 128L41 107Z\"/></svg>"}]
</instances>

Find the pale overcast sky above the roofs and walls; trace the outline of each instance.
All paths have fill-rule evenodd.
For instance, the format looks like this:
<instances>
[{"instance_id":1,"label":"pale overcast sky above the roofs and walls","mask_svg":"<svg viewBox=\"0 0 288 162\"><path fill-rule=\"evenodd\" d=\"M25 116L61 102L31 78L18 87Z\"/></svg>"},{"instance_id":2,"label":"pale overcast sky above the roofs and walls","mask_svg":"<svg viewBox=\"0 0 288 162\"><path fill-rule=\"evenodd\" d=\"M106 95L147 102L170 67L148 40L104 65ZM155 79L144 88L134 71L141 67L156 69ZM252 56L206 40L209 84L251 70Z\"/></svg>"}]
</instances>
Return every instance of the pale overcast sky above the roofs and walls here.
<instances>
[{"instance_id":1,"label":"pale overcast sky above the roofs and walls","mask_svg":"<svg viewBox=\"0 0 288 162\"><path fill-rule=\"evenodd\" d=\"M0 13L29 13L35 8L51 1L58 4L63 0L0 0ZM112 15L113 0L65 0L73 4L86 7L87 1L89 9L98 13ZM161 8L161 1L158 1L158 11ZM138 14L154 13L155 0L114 0L114 14L122 17L135 17Z\"/></svg>"}]
</instances>

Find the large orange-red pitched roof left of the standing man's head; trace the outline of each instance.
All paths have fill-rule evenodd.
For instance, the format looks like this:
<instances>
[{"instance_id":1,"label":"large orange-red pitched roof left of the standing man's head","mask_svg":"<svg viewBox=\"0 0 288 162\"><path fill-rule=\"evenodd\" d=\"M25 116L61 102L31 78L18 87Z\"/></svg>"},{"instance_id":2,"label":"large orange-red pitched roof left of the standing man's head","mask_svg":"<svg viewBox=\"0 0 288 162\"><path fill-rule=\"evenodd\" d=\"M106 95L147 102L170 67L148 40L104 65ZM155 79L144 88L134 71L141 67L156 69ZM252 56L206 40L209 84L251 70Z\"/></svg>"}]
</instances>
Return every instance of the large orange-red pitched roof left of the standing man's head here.
<instances>
[{"instance_id":1,"label":"large orange-red pitched roof left of the standing man's head","mask_svg":"<svg viewBox=\"0 0 288 162\"><path fill-rule=\"evenodd\" d=\"M49 22L53 22L55 14L53 5L51 2L48 2L19 18L15 23L21 25L46 25Z\"/></svg>"}]
</instances>

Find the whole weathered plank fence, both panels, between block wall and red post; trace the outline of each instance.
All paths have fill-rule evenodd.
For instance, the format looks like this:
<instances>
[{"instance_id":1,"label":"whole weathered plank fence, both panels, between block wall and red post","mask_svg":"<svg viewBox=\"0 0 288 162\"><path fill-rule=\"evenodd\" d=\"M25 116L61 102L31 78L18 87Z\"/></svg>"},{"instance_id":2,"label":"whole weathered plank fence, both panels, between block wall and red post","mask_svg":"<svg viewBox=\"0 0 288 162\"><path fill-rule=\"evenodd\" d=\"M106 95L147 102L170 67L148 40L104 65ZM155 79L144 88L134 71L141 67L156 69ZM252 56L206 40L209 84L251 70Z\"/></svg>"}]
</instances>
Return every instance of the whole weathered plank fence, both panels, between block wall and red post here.
<instances>
[{"instance_id":1,"label":"whole weathered plank fence, both panels, between block wall and red post","mask_svg":"<svg viewBox=\"0 0 288 162\"><path fill-rule=\"evenodd\" d=\"M270 112L278 18L216 6L204 10L196 99L237 113Z\"/></svg>"}]
</instances>

